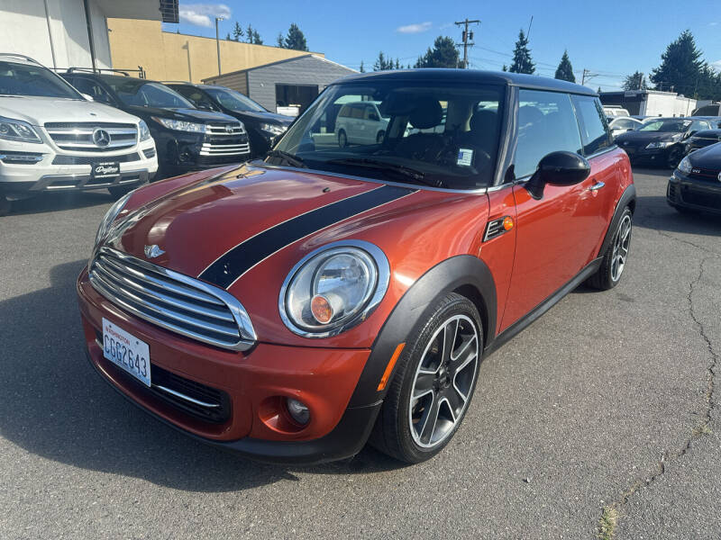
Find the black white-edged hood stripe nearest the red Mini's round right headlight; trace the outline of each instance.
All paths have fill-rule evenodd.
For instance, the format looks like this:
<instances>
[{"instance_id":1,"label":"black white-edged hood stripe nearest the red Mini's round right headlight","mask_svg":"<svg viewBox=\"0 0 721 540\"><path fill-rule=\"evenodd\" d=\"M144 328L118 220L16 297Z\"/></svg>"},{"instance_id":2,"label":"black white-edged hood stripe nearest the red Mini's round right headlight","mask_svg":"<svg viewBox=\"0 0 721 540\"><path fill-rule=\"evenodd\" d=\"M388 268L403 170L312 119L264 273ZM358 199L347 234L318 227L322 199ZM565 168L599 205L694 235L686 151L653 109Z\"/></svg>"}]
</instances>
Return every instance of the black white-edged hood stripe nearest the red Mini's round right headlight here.
<instances>
[{"instance_id":1,"label":"black white-edged hood stripe nearest the red Mini's round right headlight","mask_svg":"<svg viewBox=\"0 0 721 540\"><path fill-rule=\"evenodd\" d=\"M260 261L270 257L283 247L301 238L325 229L364 211L396 201L418 190L396 185L383 185L369 192L353 195L341 201L307 211L295 218L278 223L242 244L233 247L224 256L203 271L198 277L206 282L227 289L243 274Z\"/></svg>"}]
</instances>

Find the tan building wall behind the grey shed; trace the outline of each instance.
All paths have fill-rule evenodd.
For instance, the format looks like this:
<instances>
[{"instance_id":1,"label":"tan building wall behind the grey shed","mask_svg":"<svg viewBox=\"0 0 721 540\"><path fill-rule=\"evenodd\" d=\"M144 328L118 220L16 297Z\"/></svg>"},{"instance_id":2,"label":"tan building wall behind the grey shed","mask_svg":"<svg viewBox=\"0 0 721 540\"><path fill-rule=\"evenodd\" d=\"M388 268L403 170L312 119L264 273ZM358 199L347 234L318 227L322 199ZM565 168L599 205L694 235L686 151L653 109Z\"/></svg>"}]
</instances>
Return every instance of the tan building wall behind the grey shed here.
<instances>
[{"instance_id":1,"label":"tan building wall behind the grey shed","mask_svg":"<svg viewBox=\"0 0 721 540\"><path fill-rule=\"evenodd\" d=\"M135 69L141 66L151 79L193 83L218 75L214 38L162 31L160 21L108 19L107 27L115 69ZM223 73L307 54L303 50L220 40ZM324 57L323 53L313 54Z\"/></svg>"}]
</instances>

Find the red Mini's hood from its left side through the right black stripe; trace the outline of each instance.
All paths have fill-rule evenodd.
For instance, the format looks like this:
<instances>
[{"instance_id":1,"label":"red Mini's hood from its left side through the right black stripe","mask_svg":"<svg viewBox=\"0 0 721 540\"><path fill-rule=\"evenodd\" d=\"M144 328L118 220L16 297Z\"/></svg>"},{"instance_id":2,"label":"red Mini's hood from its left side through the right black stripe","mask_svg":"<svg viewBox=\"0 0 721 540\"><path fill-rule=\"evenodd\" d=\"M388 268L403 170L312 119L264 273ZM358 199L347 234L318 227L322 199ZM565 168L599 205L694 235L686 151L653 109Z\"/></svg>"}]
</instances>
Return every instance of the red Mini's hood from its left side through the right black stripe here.
<instances>
[{"instance_id":1,"label":"red Mini's hood from its left side through the right black stripe","mask_svg":"<svg viewBox=\"0 0 721 540\"><path fill-rule=\"evenodd\" d=\"M130 211L108 243L140 258L147 258L145 246L157 245L164 253L151 262L228 288L252 266L298 239L360 214L368 216L416 192L412 187L242 166Z\"/></svg>"}]
</instances>

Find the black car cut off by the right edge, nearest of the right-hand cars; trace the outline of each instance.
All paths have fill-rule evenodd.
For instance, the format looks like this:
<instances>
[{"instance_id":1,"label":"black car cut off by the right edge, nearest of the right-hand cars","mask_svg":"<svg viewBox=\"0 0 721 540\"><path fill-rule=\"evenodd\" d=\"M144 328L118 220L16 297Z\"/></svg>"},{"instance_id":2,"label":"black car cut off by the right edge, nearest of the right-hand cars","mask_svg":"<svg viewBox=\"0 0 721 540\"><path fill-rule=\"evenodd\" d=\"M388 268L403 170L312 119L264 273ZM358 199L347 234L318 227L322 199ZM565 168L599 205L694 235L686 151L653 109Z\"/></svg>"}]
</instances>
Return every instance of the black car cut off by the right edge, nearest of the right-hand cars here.
<instances>
[{"instance_id":1,"label":"black car cut off by the right edge, nearest of the right-hand cars","mask_svg":"<svg viewBox=\"0 0 721 540\"><path fill-rule=\"evenodd\" d=\"M669 180L666 200L684 213L721 214L721 144L701 148L681 160Z\"/></svg>"}]
</instances>

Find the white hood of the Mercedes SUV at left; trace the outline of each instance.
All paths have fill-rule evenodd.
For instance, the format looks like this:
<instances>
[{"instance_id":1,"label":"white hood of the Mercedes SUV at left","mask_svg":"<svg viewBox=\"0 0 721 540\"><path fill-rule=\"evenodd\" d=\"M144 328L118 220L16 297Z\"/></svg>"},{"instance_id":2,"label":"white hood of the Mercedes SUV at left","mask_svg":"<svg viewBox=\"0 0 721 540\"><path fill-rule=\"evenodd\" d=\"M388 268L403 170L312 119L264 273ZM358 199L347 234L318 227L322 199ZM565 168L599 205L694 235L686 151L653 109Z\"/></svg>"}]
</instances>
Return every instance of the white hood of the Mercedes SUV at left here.
<instances>
[{"instance_id":1,"label":"white hood of the Mercedes SUV at left","mask_svg":"<svg viewBox=\"0 0 721 540\"><path fill-rule=\"evenodd\" d=\"M0 97L0 116L35 126L51 121L138 121L135 116L102 103L24 95Z\"/></svg>"}]
</instances>

